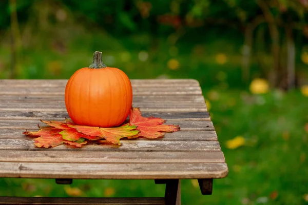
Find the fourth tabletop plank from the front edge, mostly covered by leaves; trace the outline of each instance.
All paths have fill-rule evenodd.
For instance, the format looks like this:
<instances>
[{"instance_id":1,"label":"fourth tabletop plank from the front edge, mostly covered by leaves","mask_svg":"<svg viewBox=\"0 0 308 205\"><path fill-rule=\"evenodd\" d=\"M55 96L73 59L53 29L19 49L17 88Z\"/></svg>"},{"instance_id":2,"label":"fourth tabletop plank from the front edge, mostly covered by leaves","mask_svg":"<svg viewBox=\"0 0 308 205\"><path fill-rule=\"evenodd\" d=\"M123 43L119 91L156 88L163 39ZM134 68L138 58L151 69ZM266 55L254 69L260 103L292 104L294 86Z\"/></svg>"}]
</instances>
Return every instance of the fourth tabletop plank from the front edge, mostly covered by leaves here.
<instances>
[{"instance_id":1,"label":"fourth tabletop plank from the front edge, mostly covered by leaves","mask_svg":"<svg viewBox=\"0 0 308 205\"><path fill-rule=\"evenodd\" d=\"M37 131L33 129L30 131ZM29 139L29 137L22 134L24 130L20 129L2 129L0 132L0 139ZM145 138L137 138L134 140L148 140ZM152 140L168 140L168 141L217 141L217 134L215 131L184 131L166 133L164 137Z\"/></svg>"}]
</instances>

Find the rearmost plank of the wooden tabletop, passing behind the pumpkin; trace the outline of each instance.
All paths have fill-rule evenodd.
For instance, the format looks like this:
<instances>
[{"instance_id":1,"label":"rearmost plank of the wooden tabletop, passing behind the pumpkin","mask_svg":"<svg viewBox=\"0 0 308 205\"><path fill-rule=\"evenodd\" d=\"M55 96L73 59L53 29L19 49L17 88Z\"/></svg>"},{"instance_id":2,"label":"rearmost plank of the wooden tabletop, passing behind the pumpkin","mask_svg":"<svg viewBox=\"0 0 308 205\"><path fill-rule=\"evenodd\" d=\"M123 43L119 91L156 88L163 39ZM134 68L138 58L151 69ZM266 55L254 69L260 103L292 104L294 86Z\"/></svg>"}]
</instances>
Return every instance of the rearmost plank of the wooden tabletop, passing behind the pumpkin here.
<instances>
[{"instance_id":1,"label":"rearmost plank of the wooden tabletop, passing behind the pumpkin","mask_svg":"<svg viewBox=\"0 0 308 205\"><path fill-rule=\"evenodd\" d=\"M0 79L0 87L65 87L68 79ZM132 87L200 86L195 79L131 79Z\"/></svg>"}]
</instances>

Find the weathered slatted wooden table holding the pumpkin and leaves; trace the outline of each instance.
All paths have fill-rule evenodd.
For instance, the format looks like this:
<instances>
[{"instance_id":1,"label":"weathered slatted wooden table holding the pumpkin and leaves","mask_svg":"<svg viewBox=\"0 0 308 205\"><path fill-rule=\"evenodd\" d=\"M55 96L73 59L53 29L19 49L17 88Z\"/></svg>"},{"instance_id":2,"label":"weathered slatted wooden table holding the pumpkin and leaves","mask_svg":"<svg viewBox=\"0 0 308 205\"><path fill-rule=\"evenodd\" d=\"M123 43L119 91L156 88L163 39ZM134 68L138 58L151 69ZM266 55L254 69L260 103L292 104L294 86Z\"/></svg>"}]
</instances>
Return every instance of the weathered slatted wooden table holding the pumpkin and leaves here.
<instances>
[{"instance_id":1,"label":"weathered slatted wooden table holding the pumpkin and leaves","mask_svg":"<svg viewBox=\"0 0 308 205\"><path fill-rule=\"evenodd\" d=\"M133 107L140 107L144 116L162 117L167 124L179 125L179 132L156 140L121 140L121 147L34 147L33 140L22 132L36 130L38 119L68 117L64 103L66 83L67 80L0 80L0 177L55 178L57 183L70 183L71 179L155 179L156 183L166 183L165 197L71 201L0 197L0 204L180 204L179 179L198 179L202 194L211 194L213 178L227 175L201 88L193 79L131 80Z\"/></svg>"}]
</instances>

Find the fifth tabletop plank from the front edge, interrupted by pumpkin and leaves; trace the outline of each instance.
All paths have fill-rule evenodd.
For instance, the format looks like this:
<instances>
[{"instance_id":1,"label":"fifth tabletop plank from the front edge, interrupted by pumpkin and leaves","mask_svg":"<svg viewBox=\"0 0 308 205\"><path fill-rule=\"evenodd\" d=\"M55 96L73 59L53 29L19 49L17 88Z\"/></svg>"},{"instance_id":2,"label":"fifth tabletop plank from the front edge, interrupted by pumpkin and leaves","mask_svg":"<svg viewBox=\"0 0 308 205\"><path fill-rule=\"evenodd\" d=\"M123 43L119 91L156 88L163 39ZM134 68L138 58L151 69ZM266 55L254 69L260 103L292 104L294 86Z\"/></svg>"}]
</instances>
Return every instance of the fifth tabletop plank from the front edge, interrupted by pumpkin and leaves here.
<instances>
[{"instance_id":1,"label":"fifth tabletop plank from the front edge, interrupted by pumpkin and leaves","mask_svg":"<svg viewBox=\"0 0 308 205\"><path fill-rule=\"evenodd\" d=\"M36 129L37 124L44 126L45 124L38 120L13 120L0 119L0 129ZM169 119L166 124L179 125L181 130L214 130L211 121L178 121Z\"/></svg>"}]
</instances>

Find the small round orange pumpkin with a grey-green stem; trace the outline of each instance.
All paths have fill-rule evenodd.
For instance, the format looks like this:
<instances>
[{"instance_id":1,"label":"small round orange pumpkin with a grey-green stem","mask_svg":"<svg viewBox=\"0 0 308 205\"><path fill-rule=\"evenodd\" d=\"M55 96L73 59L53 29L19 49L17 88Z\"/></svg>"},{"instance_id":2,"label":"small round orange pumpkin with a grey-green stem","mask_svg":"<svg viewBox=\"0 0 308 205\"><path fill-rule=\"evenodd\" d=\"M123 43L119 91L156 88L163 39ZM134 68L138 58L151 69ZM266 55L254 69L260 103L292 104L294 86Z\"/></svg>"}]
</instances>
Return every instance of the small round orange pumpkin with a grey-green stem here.
<instances>
[{"instance_id":1,"label":"small round orange pumpkin with a grey-green stem","mask_svg":"<svg viewBox=\"0 0 308 205\"><path fill-rule=\"evenodd\" d=\"M103 64L102 52L95 51L89 68L77 70L65 88L65 105L78 125L117 127L127 118L132 88L127 75Z\"/></svg>"}]
</instances>

